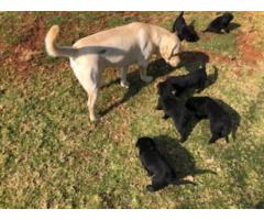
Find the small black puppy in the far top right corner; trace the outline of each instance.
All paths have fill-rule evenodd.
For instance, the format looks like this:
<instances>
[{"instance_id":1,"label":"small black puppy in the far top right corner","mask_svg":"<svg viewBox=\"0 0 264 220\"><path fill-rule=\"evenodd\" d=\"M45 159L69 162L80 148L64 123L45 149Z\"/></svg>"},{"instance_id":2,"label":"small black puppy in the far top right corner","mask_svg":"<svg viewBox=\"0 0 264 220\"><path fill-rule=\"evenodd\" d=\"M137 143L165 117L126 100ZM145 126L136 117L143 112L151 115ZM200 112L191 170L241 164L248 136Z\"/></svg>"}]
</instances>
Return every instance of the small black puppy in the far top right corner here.
<instances>
[{"instance_id":1,"label":"small black puppy in the far top right corner","mask_svg":"<svg viewBox=\"0 0 264 220\"><path fill-rule=\"evenodd\" d=\"M233 15L226 12L221 16L216 18L204 32L221 33L221 30L224 30L229 33L228 25L232 20Z\"/></svg>"}]
</instances>

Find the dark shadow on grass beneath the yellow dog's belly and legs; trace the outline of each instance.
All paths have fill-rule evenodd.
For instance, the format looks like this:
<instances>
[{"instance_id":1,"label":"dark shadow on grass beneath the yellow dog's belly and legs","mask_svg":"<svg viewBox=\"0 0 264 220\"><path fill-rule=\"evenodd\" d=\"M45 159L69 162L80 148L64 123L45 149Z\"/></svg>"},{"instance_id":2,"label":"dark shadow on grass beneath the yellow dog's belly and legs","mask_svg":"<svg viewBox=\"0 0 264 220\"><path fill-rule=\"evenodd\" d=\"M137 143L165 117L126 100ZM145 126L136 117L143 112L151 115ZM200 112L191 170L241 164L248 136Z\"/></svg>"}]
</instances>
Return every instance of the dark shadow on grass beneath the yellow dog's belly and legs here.
<instances>
[{"instance_id":1,"label":"dark shadow on grass beneath the yellow dog's belly and legs","mask_svg":"<svg viewBox=\"0 0 264 220\"><path fill-rule=\"evenodd\" d=\"M147 67L147 75L153 76L153 80L155 80L156 78L158 78L163 75L169 74L175 68L169 66L168 64L166 64L164 59L157 59L157 61L154 61L154 62L150 63L150 65ZM109 87L113 84L118 84L119 81L120 81L120 79L118 78L113 81L110 81L107 85L103 85L102 88ZM139 94L143 87L148 85L148 84L141 80L139 70L129 74L128 75L128 81L130 82L130 87L129 87L128 91L125 92L124 97L120 101L113 103L112 106L108 107L106 110L101 111L100 116L107 114L112 109L114 109L118 106L120 106L120 105L124 103L125 101L130 100L136 94Z\"/></svg>"}]
</instances>

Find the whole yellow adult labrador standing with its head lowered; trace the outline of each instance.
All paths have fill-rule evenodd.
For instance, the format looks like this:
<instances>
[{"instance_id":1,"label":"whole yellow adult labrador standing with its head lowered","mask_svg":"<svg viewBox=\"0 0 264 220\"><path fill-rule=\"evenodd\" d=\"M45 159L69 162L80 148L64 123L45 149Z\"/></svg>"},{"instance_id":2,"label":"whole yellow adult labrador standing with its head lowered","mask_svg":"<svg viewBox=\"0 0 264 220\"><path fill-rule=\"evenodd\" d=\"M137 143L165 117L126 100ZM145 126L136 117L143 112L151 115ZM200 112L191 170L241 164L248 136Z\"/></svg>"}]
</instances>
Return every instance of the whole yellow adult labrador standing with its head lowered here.
<instances>
[{"instance_id":1,"label":"whole yellow adult labrador standing with its head lowered","mask_svg":"<svg viewBox=\"0 0 264 220\"><path fill-rule=\"evenodd\" d=\"M127 72L129 65L138 64L141 79L150 82L146 67L152 55L162 56L169 65L177 66L180 51L178 37L167 30L146 23L133 22L128 25L102 31L80 38L73 46L57 46L55 40L58 26L50 29L45 46L50 56L69 57L70 66L88 94L90 120L97 120L95 103L100 87L100 77L105 68L121 68L121 86L129 87Z\"/></svg>"}]
</instances>

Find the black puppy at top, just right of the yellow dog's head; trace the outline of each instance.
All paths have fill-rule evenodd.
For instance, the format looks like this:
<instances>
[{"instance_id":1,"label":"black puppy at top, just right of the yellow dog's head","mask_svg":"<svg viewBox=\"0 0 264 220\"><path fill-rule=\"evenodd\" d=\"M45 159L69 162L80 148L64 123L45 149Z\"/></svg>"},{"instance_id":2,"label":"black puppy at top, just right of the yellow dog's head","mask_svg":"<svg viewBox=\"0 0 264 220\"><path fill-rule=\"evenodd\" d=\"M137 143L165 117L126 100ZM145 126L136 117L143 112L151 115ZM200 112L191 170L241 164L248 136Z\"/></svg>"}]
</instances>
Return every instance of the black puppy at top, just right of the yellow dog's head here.
<instances>
[{"instance_id":1,"label":"black puppy at top, just right of the yellow dog's head","mask_svg":"<svg viewBox=\"0 0 264 220\"><path fill-rule=\"evenodd\" d=\"M173 32L176 33L180 41L196 42L199 40L195 30L190 29L185 22L184 12L182 12L174 22Z\"/></svg>"}]
</instances>

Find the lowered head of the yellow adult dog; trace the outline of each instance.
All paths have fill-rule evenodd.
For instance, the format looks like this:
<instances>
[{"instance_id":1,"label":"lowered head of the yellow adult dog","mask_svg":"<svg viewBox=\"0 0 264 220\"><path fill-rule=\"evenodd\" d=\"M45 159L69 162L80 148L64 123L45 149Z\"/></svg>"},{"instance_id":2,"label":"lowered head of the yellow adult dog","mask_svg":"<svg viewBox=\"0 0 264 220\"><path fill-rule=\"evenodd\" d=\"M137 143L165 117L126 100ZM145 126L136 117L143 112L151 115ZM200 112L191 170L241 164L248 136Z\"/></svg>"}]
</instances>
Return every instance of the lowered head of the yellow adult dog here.
<instances>
[{"instance_id":1,"label":"lowered head of the yellow adult dog","mask_svg":"<svg viewBox=\"0 0 264 220\"><path fill-rule=\"evenodd\" d=\"M174 33L167 33L162 36L160 44L161 56L168 63L170 66L176 67L180 59L180 41Z\"/></svg>"}]
</instances>

